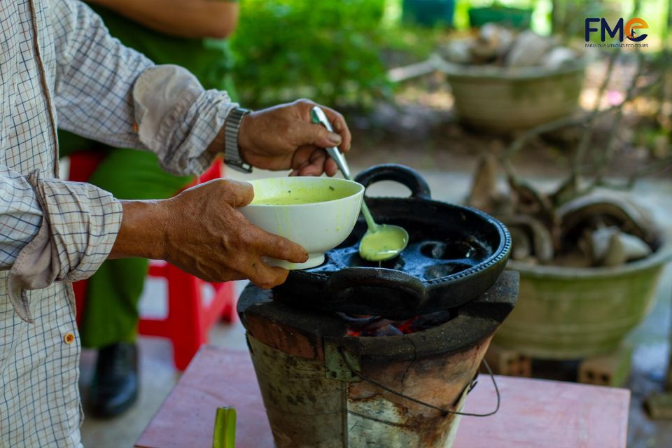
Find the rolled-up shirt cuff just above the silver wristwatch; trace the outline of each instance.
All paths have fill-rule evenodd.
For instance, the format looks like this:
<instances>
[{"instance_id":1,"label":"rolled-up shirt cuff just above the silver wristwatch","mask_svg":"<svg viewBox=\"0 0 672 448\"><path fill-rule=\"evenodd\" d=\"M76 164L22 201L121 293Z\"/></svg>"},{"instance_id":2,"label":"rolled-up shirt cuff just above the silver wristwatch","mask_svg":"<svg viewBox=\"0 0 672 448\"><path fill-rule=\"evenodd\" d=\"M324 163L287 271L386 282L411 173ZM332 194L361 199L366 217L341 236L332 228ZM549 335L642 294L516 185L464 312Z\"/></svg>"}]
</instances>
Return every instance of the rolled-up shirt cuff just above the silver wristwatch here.
<instances>
[{"instance_id":1,"label":"rolled-up shirt cuff just above the silver wristwatch","mask_svg":"<svg viewBox=\"0 0 672 448\"><path fill-rule=\"evenodd\" d=\"M139 140L174 174L202 174L216 154L207 151L237 103L226 92L204 90L193 74L176 65L141 73L133 88Z\"/></svg>"}]
</instances>

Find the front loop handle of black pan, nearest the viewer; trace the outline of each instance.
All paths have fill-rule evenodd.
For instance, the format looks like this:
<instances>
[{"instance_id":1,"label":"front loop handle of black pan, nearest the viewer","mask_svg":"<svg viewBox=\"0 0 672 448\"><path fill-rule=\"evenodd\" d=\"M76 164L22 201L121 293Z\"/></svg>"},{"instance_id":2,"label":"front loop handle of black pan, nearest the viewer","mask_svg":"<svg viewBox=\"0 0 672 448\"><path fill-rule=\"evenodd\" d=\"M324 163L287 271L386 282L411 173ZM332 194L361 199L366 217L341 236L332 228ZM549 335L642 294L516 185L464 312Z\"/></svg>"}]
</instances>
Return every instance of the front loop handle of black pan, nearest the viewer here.
<instances>
[{"instance_id":1,"label":"front loop handle of black pan, nearest the viewer","mask_svg":"<svg viewBox=\"0 0 672 448\"><path fill-rule=\"evenodd\" d=\"M329 276L326 289L332 298L345 293L349 288L378 287L393 288L402 291L405 296L414 302L422 302L425 299L426 288L423 283L414 276L396 269L379 269L375 267L346 267Z\"/></svg>"}]
</instances>

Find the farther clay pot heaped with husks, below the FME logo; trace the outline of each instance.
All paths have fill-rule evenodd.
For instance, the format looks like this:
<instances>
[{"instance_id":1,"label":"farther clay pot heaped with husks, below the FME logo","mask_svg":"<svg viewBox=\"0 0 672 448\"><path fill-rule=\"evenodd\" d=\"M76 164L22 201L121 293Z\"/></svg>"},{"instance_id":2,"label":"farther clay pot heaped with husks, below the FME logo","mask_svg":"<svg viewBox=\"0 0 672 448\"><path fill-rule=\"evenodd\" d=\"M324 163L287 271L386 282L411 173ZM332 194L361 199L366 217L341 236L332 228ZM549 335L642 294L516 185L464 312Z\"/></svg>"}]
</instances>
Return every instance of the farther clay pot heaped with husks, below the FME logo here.
<instances>
[{"instance_id":1,"label":"farther clay pot heaped with husks, below the FME logo","mask_svg":"<svg viewBox=\"0 0 672 448\"><path fill-rule=\"evenodd\" d=\"M434 57L446 74L458 118L470 127L509 133L573 114L585 59L582 51L531 30L488 24L453 40Z\"/></svg>"}]
</instances>

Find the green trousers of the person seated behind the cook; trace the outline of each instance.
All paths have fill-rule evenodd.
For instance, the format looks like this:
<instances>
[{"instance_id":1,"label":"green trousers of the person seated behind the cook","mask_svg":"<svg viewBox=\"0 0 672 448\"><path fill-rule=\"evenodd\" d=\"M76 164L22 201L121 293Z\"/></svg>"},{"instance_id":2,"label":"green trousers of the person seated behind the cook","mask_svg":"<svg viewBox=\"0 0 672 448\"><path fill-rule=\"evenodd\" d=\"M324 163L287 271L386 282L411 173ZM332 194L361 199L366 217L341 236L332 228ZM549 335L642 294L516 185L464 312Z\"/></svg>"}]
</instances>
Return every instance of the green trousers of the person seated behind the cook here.
<instances>
[{"instance_id":1,"label":"green trousers of the person seated behind the cook","mask_svg":"<svg viewBox=\"0 0 672 448\"><path fill-rule=\"evenodd\" d=\"M63 134L60 139L76 138ZM127 148L102 151L108 153L89 182L117 199L164 199L174 196L193 180L190 176L164 172L153 153ZM147 269L148 260L144 258L106 260L88 279L79 328L83 346L100 348L134 341L139 320L138 302Z\"/></svg>"}]
</instances>

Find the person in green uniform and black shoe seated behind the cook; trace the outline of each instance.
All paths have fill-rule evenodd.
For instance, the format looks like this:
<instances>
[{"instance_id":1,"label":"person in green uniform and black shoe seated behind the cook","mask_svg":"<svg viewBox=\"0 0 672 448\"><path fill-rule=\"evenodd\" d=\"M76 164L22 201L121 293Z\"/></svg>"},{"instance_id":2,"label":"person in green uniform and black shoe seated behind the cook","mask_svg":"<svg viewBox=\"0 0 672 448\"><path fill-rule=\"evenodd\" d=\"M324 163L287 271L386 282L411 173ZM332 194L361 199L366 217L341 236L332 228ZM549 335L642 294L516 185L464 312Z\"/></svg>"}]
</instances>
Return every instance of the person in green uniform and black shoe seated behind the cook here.
<instances>
[{"instance_id":1,"label":"person in green uniform and black shoe seated behind the cook","mask_svg":"<svg viewBox=\"0 0 672 448\"><path fill-rule=\"evenodd\" d=\"M226 90L235 101L232 58L225 37L237 24L238 6L221 0L90 0L112 36L157 64L176 64L191 71L207 89ZM121 200L172 197L193 181L163 171L156 155L130 148L109 148L59 131L60 155L104 151L104 159L89 182ZM90 388L90 411L116 416L138 396L135 344L138 302L148 260L107 260L87 283L82 345L98 349Z\"/></svg>"}]
</instances>

